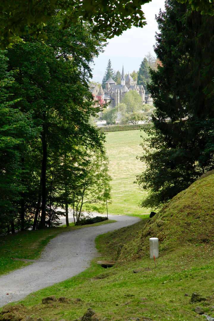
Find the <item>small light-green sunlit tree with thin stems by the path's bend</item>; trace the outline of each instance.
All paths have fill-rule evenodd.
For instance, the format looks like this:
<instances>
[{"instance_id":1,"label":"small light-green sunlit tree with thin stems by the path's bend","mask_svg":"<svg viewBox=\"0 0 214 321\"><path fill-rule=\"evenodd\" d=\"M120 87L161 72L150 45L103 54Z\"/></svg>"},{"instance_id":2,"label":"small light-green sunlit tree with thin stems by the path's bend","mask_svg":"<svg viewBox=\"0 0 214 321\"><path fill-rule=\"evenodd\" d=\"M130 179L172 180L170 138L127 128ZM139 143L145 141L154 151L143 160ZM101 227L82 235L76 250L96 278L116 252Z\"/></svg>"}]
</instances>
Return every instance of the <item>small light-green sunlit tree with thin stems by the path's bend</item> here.
<instances>
[{"instance_id":1,"label":"small light-green sunlit tree with thin stems by the path's bend","mask_svg":"<svg viewBox=\"0 0 214 321\"><path fill-rule=\"evenodd\" d=\"M75 225L79 225L82 213L96 211L103 213L106 200L110 200L111 180L108 175L108 159L104 151L79 146L69 163L69 175L64 195L73 209Z\"/></svg>"}]
</instances>

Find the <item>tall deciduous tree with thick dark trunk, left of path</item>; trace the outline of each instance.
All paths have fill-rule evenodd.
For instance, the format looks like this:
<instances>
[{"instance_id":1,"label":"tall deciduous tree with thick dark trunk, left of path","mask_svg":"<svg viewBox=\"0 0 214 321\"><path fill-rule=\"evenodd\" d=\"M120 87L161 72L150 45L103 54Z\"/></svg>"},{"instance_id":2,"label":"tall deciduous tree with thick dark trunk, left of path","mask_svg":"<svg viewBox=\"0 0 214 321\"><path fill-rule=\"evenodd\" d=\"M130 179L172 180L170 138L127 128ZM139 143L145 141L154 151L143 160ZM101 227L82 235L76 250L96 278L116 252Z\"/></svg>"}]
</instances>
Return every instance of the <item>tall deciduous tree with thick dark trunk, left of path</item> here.
<instances>
[{"instance_id":1,"label":"tall deciduous tree with thick dark trunk, left of path","mask_svg":"<svg viewBox=\"0 0 214 321\"><path fill-rule=\"evenodd\" d=\"M91 26L82 23L62 30L57 18L48 22L47 34L47 42L27 34L6 53L14 78L9 91L9 97L16 99L14 109L24 117L30 114L32 128L39 130L36 142L29 142L30 153L20 151L19 166L26 173L21 179L27 193L17 206L25 218L29 212L38 218L41 208L41 228L53 213L55 156L60 158L62 145L68 151L82 140L100 148L102 145L98 131L88 122L100 106L93 105L87 84L89 64L102 48L100 39L91 35ZM32 211L30 203L34 204Z\"/></svg>"}]
</instances>

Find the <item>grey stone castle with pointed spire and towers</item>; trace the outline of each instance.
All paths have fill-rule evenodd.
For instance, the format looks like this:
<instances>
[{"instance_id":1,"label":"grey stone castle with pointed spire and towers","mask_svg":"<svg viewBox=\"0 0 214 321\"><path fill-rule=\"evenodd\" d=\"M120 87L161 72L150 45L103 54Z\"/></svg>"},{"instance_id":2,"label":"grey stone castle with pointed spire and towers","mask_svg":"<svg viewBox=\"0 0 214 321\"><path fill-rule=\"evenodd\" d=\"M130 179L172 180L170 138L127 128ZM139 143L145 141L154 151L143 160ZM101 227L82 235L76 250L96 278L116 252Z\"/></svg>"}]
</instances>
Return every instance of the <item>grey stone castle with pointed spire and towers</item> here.
<instances>
[{"instance_id":1,"label":"grey stone castle with pointed spire and towers","mask_svg":"<svg viewBox=\"0 0 214 321\"><path fill-rule=\"evenodd\" d=\"M100 88L98 85L91 85L90 92L93 94L94 98L101 97L105 103L109 103L107 108L114 108L120 102L122 102L123 97L126 92L130 90L135 90L142 97L142 104L152 105L152 98L150 95L145 95L145 90L143 85L137 84L137 79L133 80L130 73L125 77L124 67L121 75L121 84L117 85L116 82L110 77L105 83L106 88L103 90L102 86Z\"/></svg>"}]
</instances>

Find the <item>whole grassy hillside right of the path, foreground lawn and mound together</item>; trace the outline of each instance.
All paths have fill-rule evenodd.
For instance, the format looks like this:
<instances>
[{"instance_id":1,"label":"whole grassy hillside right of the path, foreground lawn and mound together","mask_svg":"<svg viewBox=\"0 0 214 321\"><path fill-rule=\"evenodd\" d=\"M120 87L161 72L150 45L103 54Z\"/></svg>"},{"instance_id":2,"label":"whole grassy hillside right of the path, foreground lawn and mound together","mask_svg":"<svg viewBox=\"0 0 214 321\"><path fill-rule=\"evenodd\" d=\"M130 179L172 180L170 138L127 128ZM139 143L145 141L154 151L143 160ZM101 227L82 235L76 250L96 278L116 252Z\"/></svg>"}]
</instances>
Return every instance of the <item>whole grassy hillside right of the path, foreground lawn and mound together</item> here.
<instances>
[{"instance_id":1,"label":"whole grassy hillside right of the path, foreground lawn and mound together","mask_svg":"<svg viewBox=\"0 0 214 321\"><path fill-rule=\"evenodd\" d=\"M53 318L67 321L93 308L99 320L106 317L106 321L138 317L141 321L143 317L193 321L205 320L195 312L201 306L207 315L214 317L213 183L214 175L198 180L152 219L142 219L130 227L99 236L97 247L101 257L90 268L31 293L20 302L24 306L18 305L17 314L42 317L44 321ZM156 268L149 258L151 236L160 239ZM116 264L105 269L96 264L99 259L114 259ZM193 292L201 293L206 301L192 303ZM48 295L65 296L66 301L41 304Z\"/></svg>"}]
</instances>

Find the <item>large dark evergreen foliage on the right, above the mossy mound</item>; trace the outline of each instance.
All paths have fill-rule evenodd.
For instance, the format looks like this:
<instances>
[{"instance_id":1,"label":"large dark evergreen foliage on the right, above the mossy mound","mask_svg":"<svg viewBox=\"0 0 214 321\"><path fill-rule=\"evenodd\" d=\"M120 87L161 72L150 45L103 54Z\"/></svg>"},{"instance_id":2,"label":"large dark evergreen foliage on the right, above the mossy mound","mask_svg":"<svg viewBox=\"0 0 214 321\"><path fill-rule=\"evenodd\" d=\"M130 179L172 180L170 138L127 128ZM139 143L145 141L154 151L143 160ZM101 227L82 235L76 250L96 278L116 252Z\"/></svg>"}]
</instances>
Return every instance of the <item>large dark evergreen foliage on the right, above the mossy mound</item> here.
<instances>
[{"instance_id":1,"label":"large dark evergreen foliage on the right, above the mossy mound","mask_svg":"<svg viewBox=\"0 0 214 321\"><path fill-rule=\"evenodd\" d=\"M188 4L167 1L157 17L155 53L162 65L151 71L156 107L137 177L149 190L141 205L158 207L214 168L214 17Z\"/></svg>"}]
</instances>

